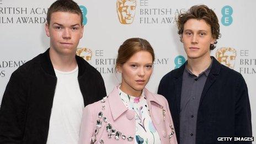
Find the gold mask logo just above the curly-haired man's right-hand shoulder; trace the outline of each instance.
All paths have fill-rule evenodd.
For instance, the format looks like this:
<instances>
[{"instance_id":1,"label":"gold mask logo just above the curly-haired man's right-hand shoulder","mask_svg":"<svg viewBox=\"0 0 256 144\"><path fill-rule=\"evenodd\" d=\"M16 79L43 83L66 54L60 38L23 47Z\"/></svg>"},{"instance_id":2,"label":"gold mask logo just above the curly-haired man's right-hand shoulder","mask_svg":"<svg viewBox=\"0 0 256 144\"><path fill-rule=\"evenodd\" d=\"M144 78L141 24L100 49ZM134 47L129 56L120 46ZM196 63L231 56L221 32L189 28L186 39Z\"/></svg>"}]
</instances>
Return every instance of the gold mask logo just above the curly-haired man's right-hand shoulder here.
<instances>
[{"instance_id":1,"label":"gold mask logo just above the curly-haired man's right-hand shoulder","mask_svg":"<svg viewBox=\"0 0 256 144\"><path fill-rule=\"evenodd\" d=\"M216 58L218 62L229 67L234 68L236 62L237 51L231 47L222 47L216 51Z\"/></svg>"}]
</instances>

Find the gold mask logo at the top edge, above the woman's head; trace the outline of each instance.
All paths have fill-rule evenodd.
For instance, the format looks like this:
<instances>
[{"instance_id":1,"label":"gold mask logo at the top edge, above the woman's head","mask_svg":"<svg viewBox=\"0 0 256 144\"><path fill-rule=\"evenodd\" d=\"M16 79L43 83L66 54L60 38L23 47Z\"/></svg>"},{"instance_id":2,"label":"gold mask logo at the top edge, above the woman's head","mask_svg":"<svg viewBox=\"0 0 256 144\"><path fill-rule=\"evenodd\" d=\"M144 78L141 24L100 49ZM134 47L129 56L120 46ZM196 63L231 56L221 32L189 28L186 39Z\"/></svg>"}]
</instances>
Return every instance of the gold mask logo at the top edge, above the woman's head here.
<instances>
[{"instance_id":1,"label":"gold mask logo at the top edge, above the woman's head","mask_svg":"<svg viewBox=\"0 0 256 144\"><path fill-rule=\"evenodd\" d=\"M136 0L117 0L116 10L121 24L131 24L134 22Z\"/></svg>"}]
</instances>

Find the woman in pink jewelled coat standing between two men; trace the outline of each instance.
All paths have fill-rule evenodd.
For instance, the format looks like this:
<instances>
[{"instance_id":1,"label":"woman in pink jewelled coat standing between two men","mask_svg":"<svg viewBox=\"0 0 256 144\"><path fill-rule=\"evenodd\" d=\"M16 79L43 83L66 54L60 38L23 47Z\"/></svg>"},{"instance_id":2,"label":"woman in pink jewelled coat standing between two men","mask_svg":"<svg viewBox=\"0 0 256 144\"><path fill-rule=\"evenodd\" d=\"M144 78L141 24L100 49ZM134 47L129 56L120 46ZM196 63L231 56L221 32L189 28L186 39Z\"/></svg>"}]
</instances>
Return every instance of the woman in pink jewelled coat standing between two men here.
<instances>
[{"instance_id":1,"label":"woman in pink jewelled coat standing between two men","mask_svg":"<svg viewBox=\"0 0 256 144\"><path fill-rule=\"evenodd\" d=\"M153 61L154 51L144 39L128 39L119 47L116 70L121 84L86 106L80 144L177 143L167 100L145 88Z\"/></svg>"}]
</instances>

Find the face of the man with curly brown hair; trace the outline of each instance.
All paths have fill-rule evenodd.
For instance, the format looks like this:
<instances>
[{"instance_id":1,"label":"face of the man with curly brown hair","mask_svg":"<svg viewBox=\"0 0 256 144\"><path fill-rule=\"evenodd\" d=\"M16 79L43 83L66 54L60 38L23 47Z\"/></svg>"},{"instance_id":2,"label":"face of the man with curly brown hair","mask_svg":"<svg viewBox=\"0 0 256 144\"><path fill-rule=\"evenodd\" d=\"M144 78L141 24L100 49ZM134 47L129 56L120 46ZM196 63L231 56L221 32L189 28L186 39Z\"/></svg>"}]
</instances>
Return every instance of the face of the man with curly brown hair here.
<instances>
[{"instance_id":1,"label":"face of the man with curly brown hair","mask_svg":"<svg viewBox=\"0 0 256 144\"><path fill-rule=\"evenodd\" d=\"M205 20L189 19L184 24L182 41L188 58L205 60L210 56L210 44L214 44L215 39Z\"/></svg>"}]
</instances>

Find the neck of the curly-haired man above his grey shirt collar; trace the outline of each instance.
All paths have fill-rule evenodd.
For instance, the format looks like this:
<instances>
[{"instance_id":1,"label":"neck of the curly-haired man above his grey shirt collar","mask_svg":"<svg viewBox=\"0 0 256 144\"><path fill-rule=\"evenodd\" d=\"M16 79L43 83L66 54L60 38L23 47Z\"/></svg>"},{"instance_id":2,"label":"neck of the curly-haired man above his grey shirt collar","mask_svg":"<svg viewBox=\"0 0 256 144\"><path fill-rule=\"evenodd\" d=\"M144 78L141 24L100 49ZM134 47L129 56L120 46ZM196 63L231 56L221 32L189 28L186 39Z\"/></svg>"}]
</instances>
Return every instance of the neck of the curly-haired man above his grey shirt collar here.
<instances>
[{"instance_id":1,"label":"neck of the curly-haired man above his grey shirt collar","mask_svg":"<svg viewBox=\"0 0 256 144\"><path fill-rule=\"evenodd\" d=\"M200 58L188 58L187 67L195 76L199 76L211 65L211 61L210 55Z\"/></svg>"}]
</instances>

